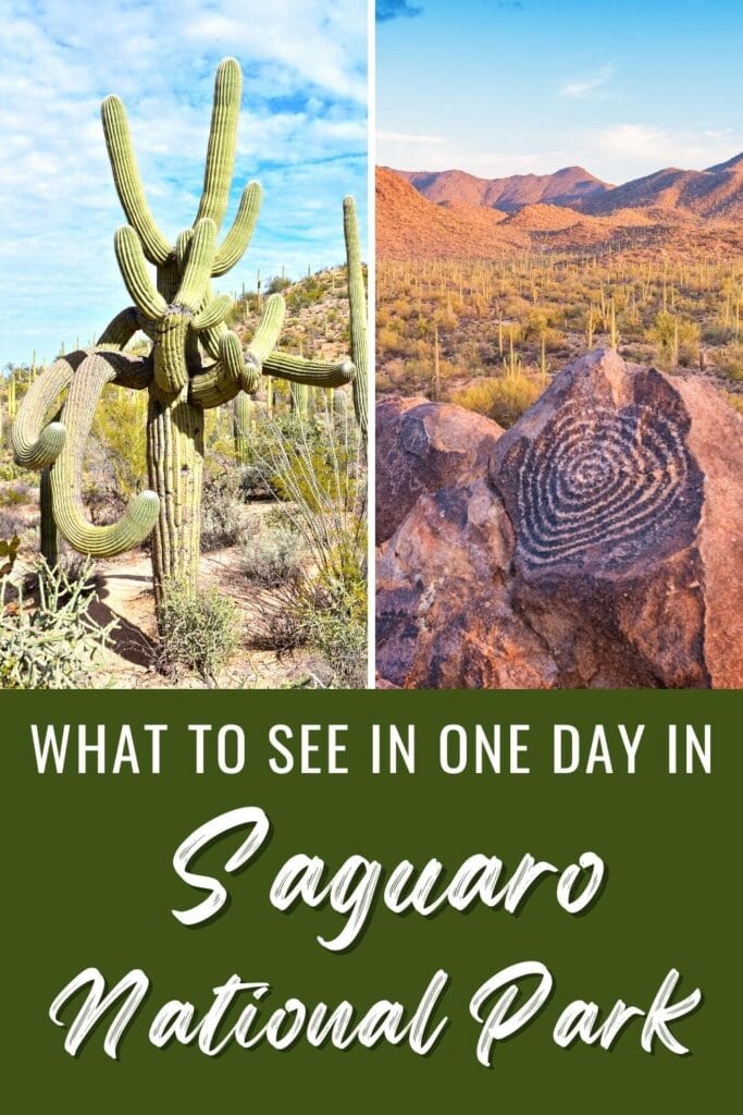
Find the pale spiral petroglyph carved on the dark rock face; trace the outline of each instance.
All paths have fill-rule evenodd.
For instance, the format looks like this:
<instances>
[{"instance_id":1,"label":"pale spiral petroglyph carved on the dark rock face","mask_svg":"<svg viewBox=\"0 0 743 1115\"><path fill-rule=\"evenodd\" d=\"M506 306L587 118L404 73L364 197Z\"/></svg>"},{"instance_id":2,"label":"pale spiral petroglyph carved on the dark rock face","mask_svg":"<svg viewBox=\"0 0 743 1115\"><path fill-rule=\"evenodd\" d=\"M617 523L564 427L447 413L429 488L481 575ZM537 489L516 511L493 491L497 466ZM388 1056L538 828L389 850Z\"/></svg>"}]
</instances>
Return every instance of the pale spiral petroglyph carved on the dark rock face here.
<instances>
[{"instance_id":1,"label":"pale spiral petroglyph carved on the dark rock face","mask_svg":"<svg viewBox=\"0 0 743 1115\"><path fill-rule=\"evenodd\" d=\"M620 569L677 533L695 474L675 416L568 404L518 469L519 555L531 566Z\"/></svg>"}]
</instances>

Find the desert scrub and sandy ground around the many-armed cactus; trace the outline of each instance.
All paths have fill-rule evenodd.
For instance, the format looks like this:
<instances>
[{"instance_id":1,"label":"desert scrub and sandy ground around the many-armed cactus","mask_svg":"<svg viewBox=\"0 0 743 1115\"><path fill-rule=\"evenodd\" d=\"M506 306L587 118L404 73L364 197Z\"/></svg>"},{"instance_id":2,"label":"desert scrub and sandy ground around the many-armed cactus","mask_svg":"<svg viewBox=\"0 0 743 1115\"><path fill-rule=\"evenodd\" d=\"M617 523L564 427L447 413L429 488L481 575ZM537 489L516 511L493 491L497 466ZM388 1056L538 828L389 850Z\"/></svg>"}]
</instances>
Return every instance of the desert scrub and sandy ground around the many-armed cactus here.
<instances>
[{"instance_id":1,"label":"desert scrub and sandy ground around the many-armed cactus","mask_svg":"<svg viewBox=\"0 0 743 1115\"><path fill-rule=\"evenodd\" d=\"M349 351L345 268L278 284L287 355ZM236 292L238 336L252 334L261 301L257 280ZM147 540L87 562L61 541L49 595L40 478L13 462L9 434L40 370L31 360L0 376L2 687L365 682L366 462L351 387L265 376L206 414L199 591L176 582L158 630ZM116 522L146 484L145 419L141 392L107 386L81 476L95 525Z\"/></svg>"}]
</instances>

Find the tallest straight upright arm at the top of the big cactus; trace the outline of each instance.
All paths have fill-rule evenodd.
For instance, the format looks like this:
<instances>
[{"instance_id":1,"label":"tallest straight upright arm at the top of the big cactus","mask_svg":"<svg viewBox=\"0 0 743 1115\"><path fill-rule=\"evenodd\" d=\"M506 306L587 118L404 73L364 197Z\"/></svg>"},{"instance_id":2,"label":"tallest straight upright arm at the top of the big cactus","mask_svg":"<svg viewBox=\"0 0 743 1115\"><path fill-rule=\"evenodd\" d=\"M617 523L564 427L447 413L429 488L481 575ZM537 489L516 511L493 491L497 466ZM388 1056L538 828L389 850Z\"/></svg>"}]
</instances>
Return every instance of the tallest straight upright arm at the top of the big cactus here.
<instances>
[{"instance_id":1,"label":"tallest straight upright arm at the top of the big cactus","mask_svg":"<svg viewBox=\"0 0 743 1115\"><path fill-rule=\"evenodd\" d=\"M196 223L209 217L218 229L227 211L232 172L237 146L237 118L243 89L243 75L234 58L224 58L214 81L214 108L209 143L206 149L204 191Z\"/></svg>"}]
</instances>

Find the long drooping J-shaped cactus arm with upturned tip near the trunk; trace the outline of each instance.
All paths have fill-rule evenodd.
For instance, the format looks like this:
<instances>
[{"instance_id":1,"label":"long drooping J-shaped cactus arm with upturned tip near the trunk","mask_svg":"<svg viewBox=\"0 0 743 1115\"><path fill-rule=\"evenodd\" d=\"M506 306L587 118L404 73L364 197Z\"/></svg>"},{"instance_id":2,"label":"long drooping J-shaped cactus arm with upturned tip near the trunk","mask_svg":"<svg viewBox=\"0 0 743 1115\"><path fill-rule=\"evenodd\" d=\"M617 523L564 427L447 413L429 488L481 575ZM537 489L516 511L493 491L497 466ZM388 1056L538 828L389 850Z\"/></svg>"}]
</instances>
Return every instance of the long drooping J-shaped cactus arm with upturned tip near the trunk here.
<instances>
[{"instance_id":1,"label":"long drooping J-shaped cactus arm with upturned tip near the trunk","mask_svg":"<svg viewBox=\"0 0 743 1115\"><path fill-rule=\"evenodd\" d=\"M85 358L72 377L62 409L62 426L68 439L51 469L51 498L59 533L82 554L113 558L147 537L159 508L154 492L141 492L129 503L118 523L92 526L86 518L81 498L85 444L106 384L116 379L110 353L92 352Z\"/></svg>"}]
</instances>

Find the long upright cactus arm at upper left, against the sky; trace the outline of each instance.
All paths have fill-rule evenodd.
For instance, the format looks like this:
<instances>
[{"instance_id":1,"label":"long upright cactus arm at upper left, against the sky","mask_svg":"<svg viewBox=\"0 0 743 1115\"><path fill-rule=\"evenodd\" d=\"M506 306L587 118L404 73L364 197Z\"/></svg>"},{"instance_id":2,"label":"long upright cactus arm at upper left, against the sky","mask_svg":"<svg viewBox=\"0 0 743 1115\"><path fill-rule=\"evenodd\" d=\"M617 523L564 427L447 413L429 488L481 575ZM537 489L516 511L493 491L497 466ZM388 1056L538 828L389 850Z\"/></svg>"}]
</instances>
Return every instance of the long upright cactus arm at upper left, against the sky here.
<instances>
[{"instance_id":1,"label":"long upright cactus arm at upper left, against the sky","mask_svg":"<svg viewBox=\"0 0 743 1115\"><path fill-rule=\"evenodd\" d=\"M106 147L114 172L114 183L127 221L141 241L150 263L165 263L173 249L155 224L143 190L137 161L131 146L126 109L118 97L106 97L100 115L104 122Z\"/></svg>"}]
</instances>

